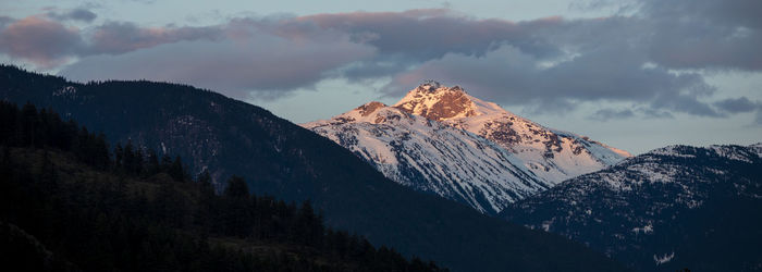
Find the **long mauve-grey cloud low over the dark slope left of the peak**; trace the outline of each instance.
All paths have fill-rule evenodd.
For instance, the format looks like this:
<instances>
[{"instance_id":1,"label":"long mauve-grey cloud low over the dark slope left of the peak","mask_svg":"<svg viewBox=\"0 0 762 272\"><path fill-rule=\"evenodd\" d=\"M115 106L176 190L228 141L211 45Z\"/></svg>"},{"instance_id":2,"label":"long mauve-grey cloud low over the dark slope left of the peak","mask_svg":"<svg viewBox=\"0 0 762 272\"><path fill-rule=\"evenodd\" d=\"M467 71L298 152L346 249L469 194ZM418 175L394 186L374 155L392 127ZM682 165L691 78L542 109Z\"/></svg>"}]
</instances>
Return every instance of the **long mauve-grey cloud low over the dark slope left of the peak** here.
<instances>
[{"instance_id":1,"label":"long mauve-grey cloud low over the dark slope left of the peak","mask_svg":"<svg viewBox=\"0 0 762 272\"><path fill-rule=\"evenodd\" d=\"M276 36L258 35L238 40L180 41L118 55L93 55L65 66L60 74L78 81L179 82L239 99L274 98L309 87L329 71L373 53L373 48L347 40L295 44Z\"/></svg>"}]
</instances>

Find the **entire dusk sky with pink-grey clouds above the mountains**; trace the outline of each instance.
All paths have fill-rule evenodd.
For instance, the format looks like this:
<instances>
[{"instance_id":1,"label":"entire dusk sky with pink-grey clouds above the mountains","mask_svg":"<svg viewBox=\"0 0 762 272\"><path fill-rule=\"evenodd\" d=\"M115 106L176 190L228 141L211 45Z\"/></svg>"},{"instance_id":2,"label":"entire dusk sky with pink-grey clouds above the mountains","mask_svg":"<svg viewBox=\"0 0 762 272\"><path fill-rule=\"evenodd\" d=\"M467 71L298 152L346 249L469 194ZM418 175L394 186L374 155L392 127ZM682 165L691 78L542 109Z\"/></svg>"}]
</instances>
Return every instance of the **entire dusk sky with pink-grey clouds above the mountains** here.
<instances>
[{"instance_id":1,"label":"entire dusk sky with pink-grey clouds above the mountains","mask_svg":"<svg viewBox=\"0 0 762 272\"><path fill-rule=\"evenodd\" d=\"M425 79L640 153L762 141L762 1L0 1L0 62L296 123Z\"/></svg>"}]
</instances>

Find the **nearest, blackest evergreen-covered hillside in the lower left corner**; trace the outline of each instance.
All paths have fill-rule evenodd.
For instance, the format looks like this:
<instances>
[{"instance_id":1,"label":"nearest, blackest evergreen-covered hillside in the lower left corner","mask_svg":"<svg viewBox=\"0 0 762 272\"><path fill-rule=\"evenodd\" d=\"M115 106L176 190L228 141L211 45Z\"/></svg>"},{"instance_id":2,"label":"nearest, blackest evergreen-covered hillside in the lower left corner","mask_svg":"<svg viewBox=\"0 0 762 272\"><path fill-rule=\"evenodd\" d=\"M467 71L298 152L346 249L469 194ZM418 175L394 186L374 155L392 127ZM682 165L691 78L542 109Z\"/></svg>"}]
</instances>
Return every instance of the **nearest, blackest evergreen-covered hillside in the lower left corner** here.
<instances>
[{"instance_id":1,"label":"nearest, blackest evergreen-covered hillside in the lower left corner","mask_svg":"<svg viewBox=\"0 0 762 272\"><path fill-rule=\"evenodd\" d=\"M19 271L441 271L323 224L310 202L222 194L180 157L0 102L0 256Z\"/></svg>"}]
</instances>

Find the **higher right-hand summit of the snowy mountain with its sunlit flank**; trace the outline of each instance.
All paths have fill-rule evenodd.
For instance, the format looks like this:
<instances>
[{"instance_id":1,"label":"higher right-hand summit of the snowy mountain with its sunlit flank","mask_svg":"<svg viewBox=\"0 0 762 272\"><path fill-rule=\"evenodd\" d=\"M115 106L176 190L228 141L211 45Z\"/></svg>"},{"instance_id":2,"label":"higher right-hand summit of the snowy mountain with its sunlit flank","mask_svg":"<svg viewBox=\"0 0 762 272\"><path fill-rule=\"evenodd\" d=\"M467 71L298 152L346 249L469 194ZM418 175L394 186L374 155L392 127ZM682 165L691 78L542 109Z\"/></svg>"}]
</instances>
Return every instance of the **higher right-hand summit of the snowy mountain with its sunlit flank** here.
<instances>
[{"instance_id":1,"label":"higher right-hand summit of the snowy mountain with its sunlit flank","mask_svg":"<svg viewBox=\"0 0 762 272\"><path fill-rule=\"evenodd\" d=\"M496 103L472 97L459 86L428 82L407 92L394 107L492 140L524 161L529 171L551 183L598 171L631 157L627 151L588 137L537 124Z\"/></svg>"}]
</instances>

